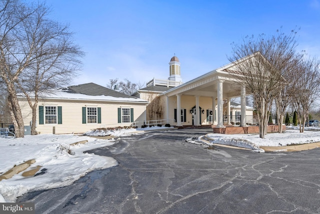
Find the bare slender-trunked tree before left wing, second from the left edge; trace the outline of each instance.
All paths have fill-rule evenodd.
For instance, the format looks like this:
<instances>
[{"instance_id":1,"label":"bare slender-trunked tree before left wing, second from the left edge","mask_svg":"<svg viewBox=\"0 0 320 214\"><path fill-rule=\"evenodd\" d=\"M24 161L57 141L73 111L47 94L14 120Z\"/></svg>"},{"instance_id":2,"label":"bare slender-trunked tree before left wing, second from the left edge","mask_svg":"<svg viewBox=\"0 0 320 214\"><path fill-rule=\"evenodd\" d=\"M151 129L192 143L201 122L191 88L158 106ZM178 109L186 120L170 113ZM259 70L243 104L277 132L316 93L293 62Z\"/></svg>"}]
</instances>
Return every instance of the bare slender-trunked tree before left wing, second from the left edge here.
<instances>
[{"instance_id":1,"label":"bare slender-trunked tree before left wing, second from the left edge","mask_svg":"<svg viewBox=\"0 0 320 214\"><path fill-rule=\"evenodd\" d=\"M38 99L50 88L67 85L76 75L83 52L73 44L68 27L47 19L49 9L38 5L34 19L24 24L34 60L21 73L18 86L32 110L31 135L35 135ZM25 50L28 51L28 50Z\"/></svg>"}]
</instances>

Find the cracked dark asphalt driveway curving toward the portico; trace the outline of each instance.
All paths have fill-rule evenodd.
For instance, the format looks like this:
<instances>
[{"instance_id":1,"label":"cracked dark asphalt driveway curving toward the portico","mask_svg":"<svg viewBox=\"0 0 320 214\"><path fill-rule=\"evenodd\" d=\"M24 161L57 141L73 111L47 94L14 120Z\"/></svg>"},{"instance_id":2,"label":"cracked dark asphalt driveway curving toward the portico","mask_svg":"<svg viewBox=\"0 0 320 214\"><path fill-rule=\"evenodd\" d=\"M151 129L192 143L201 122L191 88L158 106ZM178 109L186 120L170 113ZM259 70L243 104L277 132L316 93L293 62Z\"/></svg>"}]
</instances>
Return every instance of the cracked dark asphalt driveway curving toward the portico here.
<instances>
[{"instance_id":1,"label":"cracked dark asphalt driveway curving toward the portico","mask_svg":"<svg viewBox=\"0 0 320 214\"><path fill-rule=\"evenodd\" d=\"M121 138L91 150L116 167L18 201L36 213L320 213L320 149L284 153L185 142L211 129Z\"/></svg>"}]
</instances>

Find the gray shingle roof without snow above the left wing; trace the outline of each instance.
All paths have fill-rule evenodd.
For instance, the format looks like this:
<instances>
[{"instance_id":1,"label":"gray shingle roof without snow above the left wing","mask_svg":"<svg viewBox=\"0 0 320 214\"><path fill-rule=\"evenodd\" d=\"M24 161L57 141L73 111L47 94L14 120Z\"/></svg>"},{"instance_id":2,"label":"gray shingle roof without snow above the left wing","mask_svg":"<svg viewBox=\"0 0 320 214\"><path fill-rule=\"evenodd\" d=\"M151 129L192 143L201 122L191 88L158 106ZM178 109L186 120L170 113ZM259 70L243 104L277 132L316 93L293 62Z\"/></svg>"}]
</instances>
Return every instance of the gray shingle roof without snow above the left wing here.
<instances>
[{"instance_id":1,"label":"gray shingle roof without snow above the left wing","mask_svg":"<svg viewBox=\"0 0 320 214\"><path fill-rule=\"evenodd\" d=\"M66 88L63 88L62 91L68 92L68 93L74 93L74 94L85 94L89 96L111 96L111 97L123 97L123 98L135 98L133 96L129 96L114 90L111 90L109 88L105 88L103 86L97 85L95 83L86 83L76 86L68 86Z\"/></svg>"}]
</instances>

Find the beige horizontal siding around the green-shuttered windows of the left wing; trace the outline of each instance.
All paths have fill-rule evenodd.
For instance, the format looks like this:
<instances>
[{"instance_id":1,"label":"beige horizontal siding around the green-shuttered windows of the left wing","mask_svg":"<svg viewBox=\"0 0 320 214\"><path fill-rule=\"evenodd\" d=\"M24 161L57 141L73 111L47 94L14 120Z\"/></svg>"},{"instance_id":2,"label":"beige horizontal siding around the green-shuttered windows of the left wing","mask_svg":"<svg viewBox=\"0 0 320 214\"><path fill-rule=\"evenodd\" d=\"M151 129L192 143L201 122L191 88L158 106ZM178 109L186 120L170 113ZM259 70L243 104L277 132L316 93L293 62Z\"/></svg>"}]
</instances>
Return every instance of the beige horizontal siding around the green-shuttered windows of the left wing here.
<instances>
[{"instance_id":1,"label":"beige horizontal siding around the green-shuttered windows of the left wing","mask_svg":"<svg viewBox=\"0 0 320 214\"><path fill-rule=\"evenodd\" d=\"M23 115L24 125L30 125L32 118L31 109L25 100L19 101ZM39 133L52 133L53 127L56 134L64 133L84 133L94 128L129 126L131 123L118 123L118 108L133 108L134 122L140 122L145 119L145 103L122 103L122 102L83 102L83 101L54 101L47 100L39 102L38 106L61 106L62 124L39 124L39 114L37 107L36 131ZM82 107L100 107L101 123L82 124Z\"/></svg>"}]
</instances>

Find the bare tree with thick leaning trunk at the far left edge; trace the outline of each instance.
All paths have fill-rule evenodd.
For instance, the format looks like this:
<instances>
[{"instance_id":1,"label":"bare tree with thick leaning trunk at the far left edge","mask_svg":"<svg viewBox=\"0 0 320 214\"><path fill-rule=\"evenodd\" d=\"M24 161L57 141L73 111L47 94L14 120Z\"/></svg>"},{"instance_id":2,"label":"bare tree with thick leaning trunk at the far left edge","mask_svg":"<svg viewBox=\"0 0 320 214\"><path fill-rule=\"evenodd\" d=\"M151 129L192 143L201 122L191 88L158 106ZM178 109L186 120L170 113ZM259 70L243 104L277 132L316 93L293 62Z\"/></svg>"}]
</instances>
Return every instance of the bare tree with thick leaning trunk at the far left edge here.
<instances>
[{"instance_id":1,"label":"bare tree with thick leaning trunk at the far left edge","mask_svg":"<svg viewBox=\"0 0 320 214\"><path fill-rule=\"evenodd\" d=\"M24 136L16 84L18 77L34 59L34 47L28 46L24 24L32 19L34 12L34 8L26 7L19 1L0 0L0 77L8 93L7 103L16 137Z\"/></svg>"}]
</instances>

